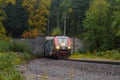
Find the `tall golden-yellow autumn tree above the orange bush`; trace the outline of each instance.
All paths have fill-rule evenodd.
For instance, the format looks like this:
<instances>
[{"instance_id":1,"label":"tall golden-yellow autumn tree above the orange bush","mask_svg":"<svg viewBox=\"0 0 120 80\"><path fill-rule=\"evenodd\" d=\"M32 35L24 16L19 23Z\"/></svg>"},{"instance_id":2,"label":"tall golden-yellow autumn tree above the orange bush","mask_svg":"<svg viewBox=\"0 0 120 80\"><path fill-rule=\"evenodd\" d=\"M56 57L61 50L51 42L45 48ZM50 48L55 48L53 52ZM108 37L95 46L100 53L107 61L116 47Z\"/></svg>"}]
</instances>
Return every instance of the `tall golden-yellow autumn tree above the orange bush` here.
<instances>
[{"instance_id":1,"label":"tall golden-yellow autumn tree above the orange bush","mask_svg":"<svg viewBox=\"0 0 120 80\"><path fill-rule=\"evenodd\" d=\"M46 30L47 17L51 0L23 0L23 6L29 13L29 31L38 29L39 34Z\"/></svg>"}]
</instances>

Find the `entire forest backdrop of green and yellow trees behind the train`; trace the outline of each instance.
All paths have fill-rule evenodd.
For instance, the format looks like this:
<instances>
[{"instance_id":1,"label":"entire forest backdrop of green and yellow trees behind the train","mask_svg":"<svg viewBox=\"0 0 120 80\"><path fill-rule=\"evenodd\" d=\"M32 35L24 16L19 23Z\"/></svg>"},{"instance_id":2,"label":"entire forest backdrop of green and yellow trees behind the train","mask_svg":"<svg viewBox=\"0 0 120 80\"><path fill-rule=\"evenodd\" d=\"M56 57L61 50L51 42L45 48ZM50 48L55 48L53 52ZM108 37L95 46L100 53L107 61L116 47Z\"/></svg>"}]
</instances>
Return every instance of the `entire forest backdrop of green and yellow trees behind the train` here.
<instances>
[{"instance_id":1,"label":"entire forest backdrop of green and yellow trees behind the train","mask_svg":"<svg viewBox=\"0 0 120 80\"><path fill-rule=\"evenodd\" d=\"M120 0L0 0L0 39L66 35L120 50Z\"/></svg>"}]
</instances>

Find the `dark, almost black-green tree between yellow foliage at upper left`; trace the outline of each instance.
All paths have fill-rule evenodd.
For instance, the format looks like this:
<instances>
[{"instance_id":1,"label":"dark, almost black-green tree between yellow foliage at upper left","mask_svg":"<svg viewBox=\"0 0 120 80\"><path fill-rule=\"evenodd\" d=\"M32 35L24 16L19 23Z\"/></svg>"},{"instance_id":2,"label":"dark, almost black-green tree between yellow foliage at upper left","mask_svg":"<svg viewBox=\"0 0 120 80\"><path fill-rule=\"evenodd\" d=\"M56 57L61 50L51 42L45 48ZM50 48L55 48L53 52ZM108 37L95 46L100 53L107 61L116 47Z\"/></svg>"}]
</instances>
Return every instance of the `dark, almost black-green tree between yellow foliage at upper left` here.
<instances>
[{"instance_id":1,"label":"dark, almost black-green tree between yellow foliage at upper left","mask_svg":"<svg viewBox=\"0 0 120 80\"><path fill-rule=\"evenodd\" d=\"M4 7L7 14L3 22L8 36L21 37L23 32L28 30L28 12L22 7L22 0L16 0L16 4L8 4Z\"/></svg>"}]
</instances>

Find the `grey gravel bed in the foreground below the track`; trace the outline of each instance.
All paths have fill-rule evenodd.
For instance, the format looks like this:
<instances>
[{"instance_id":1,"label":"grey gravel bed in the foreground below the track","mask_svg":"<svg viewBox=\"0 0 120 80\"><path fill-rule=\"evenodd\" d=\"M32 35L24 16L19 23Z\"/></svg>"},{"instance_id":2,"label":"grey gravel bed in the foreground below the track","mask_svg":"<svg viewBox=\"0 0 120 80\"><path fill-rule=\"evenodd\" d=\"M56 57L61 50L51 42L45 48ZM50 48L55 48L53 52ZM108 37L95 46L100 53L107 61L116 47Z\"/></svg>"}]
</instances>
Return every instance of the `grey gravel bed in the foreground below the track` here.
<instances>
[{"instance_id":1,"label":"grey gravel bed in the foreground below the track","mask_svg":"<svg viewBox=\"0 0 120 80\"><path fill-rule=\"evenodd\" d=\"M120 80L120 65L37 59L18 69L26 80Z\"/></svg>"}]
</instances>

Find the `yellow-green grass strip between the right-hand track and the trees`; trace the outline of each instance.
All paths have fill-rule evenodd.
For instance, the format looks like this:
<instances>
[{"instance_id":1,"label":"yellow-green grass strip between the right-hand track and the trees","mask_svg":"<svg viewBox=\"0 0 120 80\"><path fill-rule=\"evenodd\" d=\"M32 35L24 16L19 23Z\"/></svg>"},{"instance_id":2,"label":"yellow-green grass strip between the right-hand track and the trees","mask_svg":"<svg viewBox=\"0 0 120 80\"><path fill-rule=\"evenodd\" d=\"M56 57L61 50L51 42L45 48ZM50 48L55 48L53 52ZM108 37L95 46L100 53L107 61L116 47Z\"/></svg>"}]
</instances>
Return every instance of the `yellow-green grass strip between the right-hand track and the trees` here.
<instances>
[{"instance_id":1,"label":"yellow-green grass strip between the right-hand track and the trees","mask_svg":"<svg viewBox=\"0 0 120 80\"><path fill-rule=\"evenodd\" d=\"M96 52L96 53L84 53L84 54L74 53L69 58L120 60L120 51L119 50L111 50L111 51L108 50L108 51Z\"/></svg>"}]
</instances>

